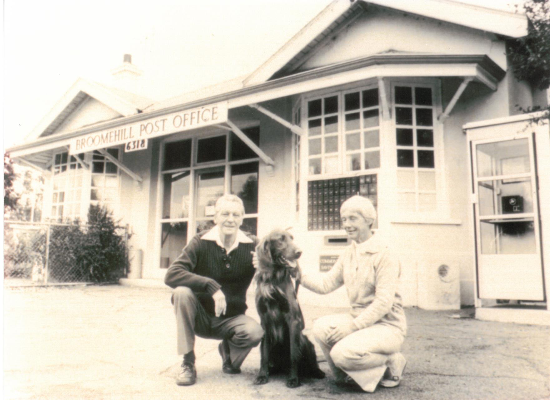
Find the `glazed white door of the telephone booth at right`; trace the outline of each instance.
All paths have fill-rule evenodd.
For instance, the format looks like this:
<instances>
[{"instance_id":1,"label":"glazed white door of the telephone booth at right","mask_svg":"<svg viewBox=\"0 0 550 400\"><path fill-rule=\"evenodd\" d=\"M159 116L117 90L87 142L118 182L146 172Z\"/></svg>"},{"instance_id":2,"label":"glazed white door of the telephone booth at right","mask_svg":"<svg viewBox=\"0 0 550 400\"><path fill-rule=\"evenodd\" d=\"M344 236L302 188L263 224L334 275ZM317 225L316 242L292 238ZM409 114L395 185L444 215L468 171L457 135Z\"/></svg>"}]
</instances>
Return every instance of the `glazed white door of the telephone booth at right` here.
<instances>
[{"instance_id":1,"label":"glazed white door of the telephone booth at right","mask_svg":"<svg viewBox=\"0 0 550 400\"><path fill-rule=\"evenodd\" d=\"M478 297L543 301L532 137L471 140L470 151Z\"/></svg>"}]
</instances>

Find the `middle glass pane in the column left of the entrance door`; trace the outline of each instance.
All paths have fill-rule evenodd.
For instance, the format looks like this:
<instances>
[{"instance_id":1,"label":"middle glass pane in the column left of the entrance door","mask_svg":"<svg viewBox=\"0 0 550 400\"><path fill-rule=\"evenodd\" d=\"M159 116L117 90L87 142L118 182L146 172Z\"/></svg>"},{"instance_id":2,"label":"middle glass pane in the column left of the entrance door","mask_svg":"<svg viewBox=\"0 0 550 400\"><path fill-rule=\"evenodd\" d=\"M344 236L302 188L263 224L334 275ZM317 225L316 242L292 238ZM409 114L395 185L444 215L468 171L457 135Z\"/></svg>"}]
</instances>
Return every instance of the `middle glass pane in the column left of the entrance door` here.
<instances>
[{"instance_id":1,"label":"middle glass pane in the column left of the entrance door","mask_svg":"<svg viewBox=\"0 0 550 400\"><path fill-rule=\"evenodd\" d=\"M189 171L164 174L162 218L189 217Z\"/></svg>"}]
</instances>

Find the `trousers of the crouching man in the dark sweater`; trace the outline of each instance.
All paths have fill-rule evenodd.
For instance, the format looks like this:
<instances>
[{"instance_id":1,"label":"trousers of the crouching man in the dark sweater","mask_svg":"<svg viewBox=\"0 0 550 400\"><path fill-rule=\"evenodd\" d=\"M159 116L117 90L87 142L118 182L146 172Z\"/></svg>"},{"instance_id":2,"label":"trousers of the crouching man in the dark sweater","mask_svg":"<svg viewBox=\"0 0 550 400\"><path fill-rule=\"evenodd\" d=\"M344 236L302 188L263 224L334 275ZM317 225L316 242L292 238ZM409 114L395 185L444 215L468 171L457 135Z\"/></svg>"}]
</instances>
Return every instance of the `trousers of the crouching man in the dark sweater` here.
<instances>
[{"instance_id":1,"label":"trousers of the crouching man in the dark sweater","mask_svg":"<svg viewBox=\"0 0 550 400\"><path fill-rule=\"evenodd\" d=\"M255 320L244 314L228 318L208 315L189 288L175 288L172 304L180 355L194 349L195 335L207 339L227 339L232 365L240 367L250 350L262 340L263 329Z\"/></svg>"}]
</instances>

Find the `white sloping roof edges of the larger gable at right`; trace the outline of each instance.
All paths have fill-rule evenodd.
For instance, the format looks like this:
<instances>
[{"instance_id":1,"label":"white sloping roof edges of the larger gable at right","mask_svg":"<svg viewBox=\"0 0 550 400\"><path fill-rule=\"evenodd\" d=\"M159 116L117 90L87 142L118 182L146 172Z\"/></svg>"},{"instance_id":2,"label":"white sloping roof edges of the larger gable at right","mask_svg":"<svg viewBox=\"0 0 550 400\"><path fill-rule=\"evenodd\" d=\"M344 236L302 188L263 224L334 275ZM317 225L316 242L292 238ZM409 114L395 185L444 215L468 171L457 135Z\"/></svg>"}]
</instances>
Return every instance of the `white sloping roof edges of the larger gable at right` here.
<instances>
[{"instance_id":1,"label":"white sloping roof edges of the larger gable at right","mask_svg":"<svg viewBox=\"0 0 550 400\"><path fill-rule=\"evenodd\" d=\"M363 12L368 12L368 3L493 34L508 37L527 35L528 21L525 15L452 0L335 0L252 72L244 80L244 86L266 82L280 76L284 71L297 68L316 48L331 40L340 29L345 28Z\"/></svg>"}]
</instances>

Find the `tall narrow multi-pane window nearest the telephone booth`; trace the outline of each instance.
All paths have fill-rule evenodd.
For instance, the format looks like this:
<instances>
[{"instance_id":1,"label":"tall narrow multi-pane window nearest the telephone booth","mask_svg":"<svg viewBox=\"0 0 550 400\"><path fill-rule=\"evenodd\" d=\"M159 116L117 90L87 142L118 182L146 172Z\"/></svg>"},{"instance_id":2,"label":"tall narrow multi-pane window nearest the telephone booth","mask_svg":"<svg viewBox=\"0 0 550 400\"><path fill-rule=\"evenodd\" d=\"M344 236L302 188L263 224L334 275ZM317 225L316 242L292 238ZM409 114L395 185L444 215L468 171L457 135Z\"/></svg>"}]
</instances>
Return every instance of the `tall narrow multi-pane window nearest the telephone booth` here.
<instances>
[{"instance_id":1,"label":"tall narrow multi-pane window nearest the telephone booth","mask_svg":"<svg viewBox=\"0 0 550 400\"><path fill-rule=\"evenodd\" d=\"M436 209L434 99L431 87L393 87L397 197L401 211Z\"/></svg>"}]
</instances>

